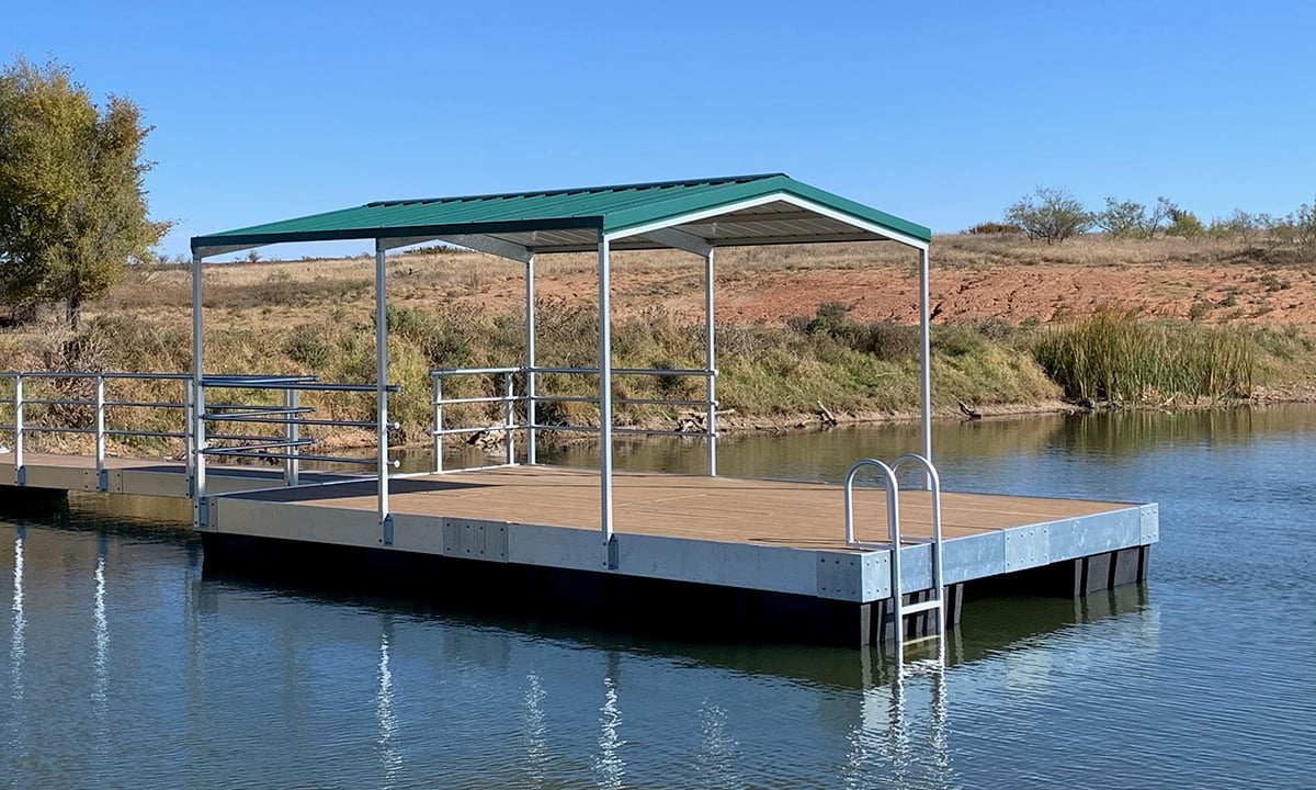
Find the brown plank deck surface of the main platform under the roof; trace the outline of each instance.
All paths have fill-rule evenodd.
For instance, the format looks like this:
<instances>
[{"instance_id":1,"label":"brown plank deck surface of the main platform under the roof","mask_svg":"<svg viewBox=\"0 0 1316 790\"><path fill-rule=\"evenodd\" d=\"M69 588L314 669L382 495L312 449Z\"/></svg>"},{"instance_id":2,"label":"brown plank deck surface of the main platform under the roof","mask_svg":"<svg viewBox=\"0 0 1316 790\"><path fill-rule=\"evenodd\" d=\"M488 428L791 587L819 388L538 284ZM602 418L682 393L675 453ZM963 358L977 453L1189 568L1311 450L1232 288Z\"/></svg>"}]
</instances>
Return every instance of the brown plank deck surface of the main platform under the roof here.
<instances>
[{"instance_id":1,"label":"brown plank deck surface of the main platform under the roof","mask_svg":"<svg viewBox=\"0 0 1316 790\"><path fill-rule=\"evenodd\" d=\"M595 470L516 466L393 479L390 510L424 515L599 529ZM241 495L312 506L374 510L376 485L362 481L317 488ZM946 539L1133 507L1113 502L942 492ZM887 537L882 490L855 488L859 540ZM903 535L932 531L930 496L900 492ZM613 528L622 533L695 537L796 548L845 548L842 488L837 485L619 471Z\"/></svg>"}]
</instances>

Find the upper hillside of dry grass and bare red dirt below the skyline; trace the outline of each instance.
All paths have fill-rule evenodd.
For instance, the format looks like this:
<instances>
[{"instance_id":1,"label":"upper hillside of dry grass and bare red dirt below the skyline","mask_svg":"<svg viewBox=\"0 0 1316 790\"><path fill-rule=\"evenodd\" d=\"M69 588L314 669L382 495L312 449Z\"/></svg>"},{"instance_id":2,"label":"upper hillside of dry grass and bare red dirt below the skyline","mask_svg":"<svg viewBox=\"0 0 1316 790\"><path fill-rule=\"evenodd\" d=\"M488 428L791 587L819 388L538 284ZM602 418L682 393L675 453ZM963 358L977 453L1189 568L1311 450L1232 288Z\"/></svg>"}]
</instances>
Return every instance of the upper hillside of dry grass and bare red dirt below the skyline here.
<instances>
[{"instance_id":1,"label":"upper hillside of dry grass and bare red dirt below the skyline","mask_svg":"<svg viewBox=\"0 0 1316 790\"><path fill-rule=\"evenodd\" d=\"M851 317L917 320L917 257L892 244L720 250L717 320L779 321L813 315L824 302L853 305ZM592 305L592 255L549 255L537 265L540 298ZM524 271L490 255L421 250L390 259L390 300L405 305L467 305L495 312L524 304ZM326 307L368 316L371 261L261 261L207 267L208 321L296 323ZM703 273L684 253L619 253L612 295L617 317L654 308L691 320L703 315ZM149 282L142 282L142 280ZM1316 255L1217 240L1101 237L1061 245L1021 238L937 236L930 275L934 320L1040 321L1103 307L1142 316L1212 323L1316 325ZM186 313L187 273L155 271L116 287L88 312L168 320Z\"/></svg>"}]
</instances>

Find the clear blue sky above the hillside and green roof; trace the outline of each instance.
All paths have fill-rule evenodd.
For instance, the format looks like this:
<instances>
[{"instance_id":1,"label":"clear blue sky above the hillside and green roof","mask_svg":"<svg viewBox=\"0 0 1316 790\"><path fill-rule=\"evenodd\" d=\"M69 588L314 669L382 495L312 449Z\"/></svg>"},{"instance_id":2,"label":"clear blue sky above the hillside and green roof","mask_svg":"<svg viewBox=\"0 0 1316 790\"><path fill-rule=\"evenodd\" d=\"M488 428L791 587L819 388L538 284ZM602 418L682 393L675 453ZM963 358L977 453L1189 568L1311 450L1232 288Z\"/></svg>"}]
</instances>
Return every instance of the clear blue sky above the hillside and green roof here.
<instances>
[{"instance_id":1,"label":"clear blue sky above the hillside and green roof","mask_svg":"<svg viewBox=\"0 0 1316 790\"><path fill-rule=\"evenodd\" d=\"M9 4L0 58L142 107L176 255L378 199L770 171L937 232L1037 186L1283 215L1316 199L1312 30L1298 1L68 0Z\"/></svg>"}]
</instances>

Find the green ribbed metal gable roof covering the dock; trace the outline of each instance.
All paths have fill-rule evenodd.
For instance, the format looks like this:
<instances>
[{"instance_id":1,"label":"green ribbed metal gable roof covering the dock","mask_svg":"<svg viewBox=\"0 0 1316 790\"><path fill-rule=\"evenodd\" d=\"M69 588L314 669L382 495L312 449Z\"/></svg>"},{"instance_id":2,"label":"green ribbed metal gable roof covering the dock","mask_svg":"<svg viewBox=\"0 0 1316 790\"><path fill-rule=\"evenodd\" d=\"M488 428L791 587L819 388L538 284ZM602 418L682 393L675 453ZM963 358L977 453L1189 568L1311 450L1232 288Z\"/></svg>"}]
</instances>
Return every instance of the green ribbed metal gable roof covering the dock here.
<instances>
[{"instance_id":1,"label":"green ribbed metal gable roof covering the dock","mask_svg":"<svg viewBox=\"0 0 1316 790\"><path fill-rule=\"evenodd\" d=\"M783 174L621 184L545 192L384 200L192 237L192 251L353 238L484 238L530 253L669 246L646 233L680 230L711 246L895 240L926 244L923 225L846 200ZM670 241L670 237L669 237ZM458 241L461 244L461 241ZM467 245L472 246L472 245Z\"/></svg>"}]
</instances>

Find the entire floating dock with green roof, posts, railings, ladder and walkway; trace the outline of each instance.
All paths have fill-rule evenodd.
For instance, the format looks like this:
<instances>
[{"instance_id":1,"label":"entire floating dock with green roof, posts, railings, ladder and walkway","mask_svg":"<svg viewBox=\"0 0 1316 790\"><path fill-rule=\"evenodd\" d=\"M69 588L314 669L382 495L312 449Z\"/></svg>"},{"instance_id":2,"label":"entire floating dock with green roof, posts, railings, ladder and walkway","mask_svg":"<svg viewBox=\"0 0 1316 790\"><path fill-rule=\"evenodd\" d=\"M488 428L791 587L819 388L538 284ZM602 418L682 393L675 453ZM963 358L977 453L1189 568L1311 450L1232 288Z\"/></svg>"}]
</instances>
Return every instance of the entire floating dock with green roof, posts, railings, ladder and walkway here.
<instances>
[{"instance_id":1,"label":"entire floating dock with green roof, posts, railings, ladder and walkway","mask_svg":"<svg viewBox=\"0 0 1316 790\"><path fill-rule=\"evenodd\" d=\"M203 259L336 240L374 242L375 381L208 373ZM403 583L525 611L549 606L570 615L662 623L682 635L701 620L716 633L846 645L891 641L898 658L905 637L944 635L975 585L1084 595L1144 579L1158 537L1155 506L941 491L930 428L930 241L923 225L784 174L384 200L193 237L191 373L0 373L11 394L0 400L11 417L0 431L14 440L13 454L0 456L0 483L29 491L187 496L208 569ZM720 477L716 250L834 242L896 244L917 255L921 446L891 466L859 460L842 486ZM525 337L511 350L511 365L430 371L434 474L399 475L390 454L397 428L390 396L399 386L388 381L386 257L428 244L522 267ZM701 263L703 354L688 362L692 367L613 365L612 255L653 249L683 250ZM550 354L537 348L536 261L582 251L597 255L596 362L545 365ZM174 395L114 395L114 387L134 378L172 387ZM616 386L634 379L657 386ZM691 386L671 386L680 381ZM316 416L326 398L350 394L368 395L374 413L345 419L330 406L329 416ZM454 427L443 415L454 407L482 413L475 425ZM132 409L175 409L182 424L109 427ZM591 424L565 424L569 411L594 412L584 417ZM646 427L653 419L670 424L678 415L674 429ZM372 456L313 453L311 433L322 427L372 432ZM91 436L95 454L25 452L25 440L42 432ZM476 432L501 440L504 462L443 471L443 437ZM597 438L597 470L540 465L536 442L549 432ZM621 433L701 441L707 475L615 470L613 444ZM108 457L111 440L133 437L176 442L184 462ZM283 469L216 463L233 460ZM374 473L311 473L301 470L304 462L363 463ZM915 470L921 488L900 490L896 471L905 462L921 466ZM861 470L880 473L882 487L855 487Z\"/></svg>"}]
</instances>

